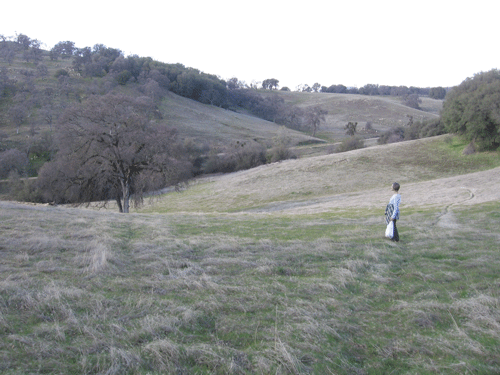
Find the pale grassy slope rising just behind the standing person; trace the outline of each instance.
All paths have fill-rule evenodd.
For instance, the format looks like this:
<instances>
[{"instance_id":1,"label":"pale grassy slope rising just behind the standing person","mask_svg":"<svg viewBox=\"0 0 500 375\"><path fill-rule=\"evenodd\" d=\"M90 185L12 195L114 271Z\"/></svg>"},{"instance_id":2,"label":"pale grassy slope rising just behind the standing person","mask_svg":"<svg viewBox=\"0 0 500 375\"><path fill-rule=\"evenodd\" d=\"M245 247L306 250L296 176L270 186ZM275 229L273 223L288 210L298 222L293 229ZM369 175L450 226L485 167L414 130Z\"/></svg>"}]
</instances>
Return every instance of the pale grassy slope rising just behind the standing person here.
<instances>
[{"instance_id":1,"label":"pale grassy slope rising just behind the standing person","mask_svg":"<svg viewBox=\"0 0 500 375\"><path fill-rule=\"evenodd\" d=\"M295 208L306 212L380 207L385 205L393 181L402 185L405 205L449 204L462 195L469 196L467 189L461 189L464 184L469 190L484 191L476 194L476 200L498 199L495 186L500 182L499 173L491 169L500 166L500 157L496 153L464 156L464 146L458 139L440 136L283 161L200 180L143 211L265 212ZM488 172L476 179L457 177L484 170ZM487 198L490 194L491 199Z\"/></svg>"}]
</instances>

